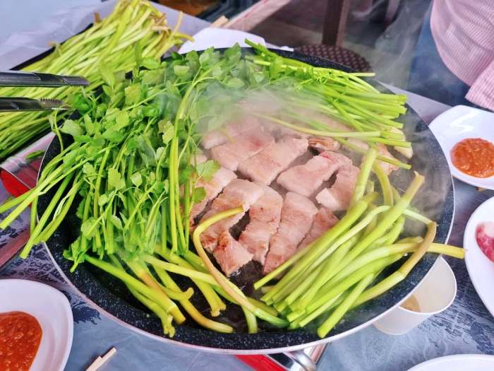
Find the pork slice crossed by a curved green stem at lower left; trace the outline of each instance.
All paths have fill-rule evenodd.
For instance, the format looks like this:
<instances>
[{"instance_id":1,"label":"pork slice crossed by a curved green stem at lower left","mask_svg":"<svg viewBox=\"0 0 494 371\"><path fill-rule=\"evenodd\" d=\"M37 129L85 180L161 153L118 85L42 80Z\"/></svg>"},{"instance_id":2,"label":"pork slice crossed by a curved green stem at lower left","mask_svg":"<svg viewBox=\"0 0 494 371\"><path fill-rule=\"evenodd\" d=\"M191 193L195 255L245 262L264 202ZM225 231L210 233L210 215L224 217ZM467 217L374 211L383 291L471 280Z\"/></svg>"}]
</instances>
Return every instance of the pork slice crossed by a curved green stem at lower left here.
<instances>
[{"instance_id":1,"label":"pork slice crossed by a curved green stem at lower left","mask_svg":"<svg viewBox=\"0 0 494 371\"><path fill-rule=\"evenodd\" d=\"M245 179L233 179L227 187L224 187L222 194L212 201L210 210L205 213L205 216L201 220L206 220L221 211L239 206L242 206L245 213L263 194L263 188L259 187L258 184ZM208 252L213 252L217 246L219 234L225 230L228 231L236 223L239 223L244 213L220 220L218 223L207 228L200 235L200 241L203 243L203 247Z\"/></svg>"}]
</instances>

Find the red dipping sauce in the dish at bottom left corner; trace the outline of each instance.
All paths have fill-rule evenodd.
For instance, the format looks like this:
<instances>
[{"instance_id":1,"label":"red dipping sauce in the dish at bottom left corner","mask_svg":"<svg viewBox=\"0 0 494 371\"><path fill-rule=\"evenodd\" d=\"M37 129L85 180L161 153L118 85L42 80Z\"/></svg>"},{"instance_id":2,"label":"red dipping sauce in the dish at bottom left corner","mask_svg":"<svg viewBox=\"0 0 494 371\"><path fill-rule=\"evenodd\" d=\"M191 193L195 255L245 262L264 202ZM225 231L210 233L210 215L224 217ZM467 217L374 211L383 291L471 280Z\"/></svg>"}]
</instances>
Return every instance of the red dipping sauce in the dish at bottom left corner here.
<instances>
[{"instance_id":1,"label":"red dipping sauce in the dish at bottom left corner","mask_svg":"<svg viewBox=\"0 0 494 371\"><path fill-rule=\"evenodd\" d=\"M40 346L42 329L25 312L0 314L0 370L28 371Z\"/></svg>"}]
</instances>

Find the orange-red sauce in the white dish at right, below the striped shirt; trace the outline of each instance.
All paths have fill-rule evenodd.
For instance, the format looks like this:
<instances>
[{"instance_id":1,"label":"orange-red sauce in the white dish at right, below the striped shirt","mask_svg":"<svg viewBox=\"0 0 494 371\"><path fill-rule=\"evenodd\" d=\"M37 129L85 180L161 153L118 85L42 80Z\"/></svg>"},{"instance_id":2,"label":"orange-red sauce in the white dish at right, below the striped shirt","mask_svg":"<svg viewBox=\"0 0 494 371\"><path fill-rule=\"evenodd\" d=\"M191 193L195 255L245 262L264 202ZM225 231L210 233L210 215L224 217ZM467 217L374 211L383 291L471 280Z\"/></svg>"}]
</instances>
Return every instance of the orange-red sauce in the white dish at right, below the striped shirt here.
<instances>
[{"instance_id":1,"label":"orange-red sauce in the white dish at right, below the striped shirt","mask_svg":"<svg viewBox=\"0 0 494 371\"><path fill-rule=\"evenodd\" d=\"M488 178L494 175L494 144L480 138L469 138L455 144L451 160L467 175Z\"/></svg>"}]
</instances>

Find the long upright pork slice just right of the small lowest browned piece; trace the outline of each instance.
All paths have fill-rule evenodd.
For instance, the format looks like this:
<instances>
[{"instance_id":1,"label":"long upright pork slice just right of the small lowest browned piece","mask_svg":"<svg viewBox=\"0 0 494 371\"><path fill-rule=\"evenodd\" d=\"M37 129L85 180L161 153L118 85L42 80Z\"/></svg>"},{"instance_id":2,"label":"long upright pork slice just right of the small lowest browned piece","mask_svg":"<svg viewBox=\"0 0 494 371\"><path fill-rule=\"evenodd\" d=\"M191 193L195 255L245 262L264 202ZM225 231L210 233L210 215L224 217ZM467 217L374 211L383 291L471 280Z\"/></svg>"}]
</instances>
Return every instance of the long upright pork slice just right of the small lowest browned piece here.
<instances>
[{"instance_id":1,"label":"long upright pork slice just right of the small lowest browned piece","mask_svg":"<svg viewBox=\"0 0 494 371\"><path fill-rule=\"evenodd\" d=\"M283 198L271 187L262 185L263 196L248 211L250 221L239 237L239 242L253 254L253 259L264 264L270 238L278 229Z\"/></svg>"}]
</instances>

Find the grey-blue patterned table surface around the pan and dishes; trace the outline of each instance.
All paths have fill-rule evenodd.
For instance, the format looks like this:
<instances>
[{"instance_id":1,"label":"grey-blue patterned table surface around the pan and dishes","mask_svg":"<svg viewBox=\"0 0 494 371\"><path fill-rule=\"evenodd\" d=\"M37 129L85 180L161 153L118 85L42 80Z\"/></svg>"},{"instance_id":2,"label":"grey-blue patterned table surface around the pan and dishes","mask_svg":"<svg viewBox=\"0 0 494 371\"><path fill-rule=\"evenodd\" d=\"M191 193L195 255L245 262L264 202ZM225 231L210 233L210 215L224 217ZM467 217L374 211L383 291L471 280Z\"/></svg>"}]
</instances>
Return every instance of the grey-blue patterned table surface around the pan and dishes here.
<instances>
[{"instance_id":1,"label":"grey-blue patterned table surface around the pan and dishes","mask_svg":"<svg viewBox=\"0 0 494 371\"><path fill-rule=\"evenodd\" d=\"M0 26L1 28L1 26ZM403 92L414 110L429 124L447 105ZM494 192L477 192L454 179L455 213L450 244L462 246L471 213ZM0 201L6 191L0 187ZM1 218L1 215L0 215ZM27 223L24 214L7 230L0 231L0 248ZM464 261L447 259L457 278L453 304L403 336L388 336L369 326L327 346L320 370L407 370L425 360L458 353L494 354L494 318L472 285ZM105 370L249 370L231 355L190 351L149 338L117 324L90 307L69 288L49 259L45 247L35 247L27 260L14 259L0 271L0 278L26 278L59 288L71 301L74 337L66 370L83 370L97 355L114 346L118 353Z\"/></svg>"}]
</instances>

